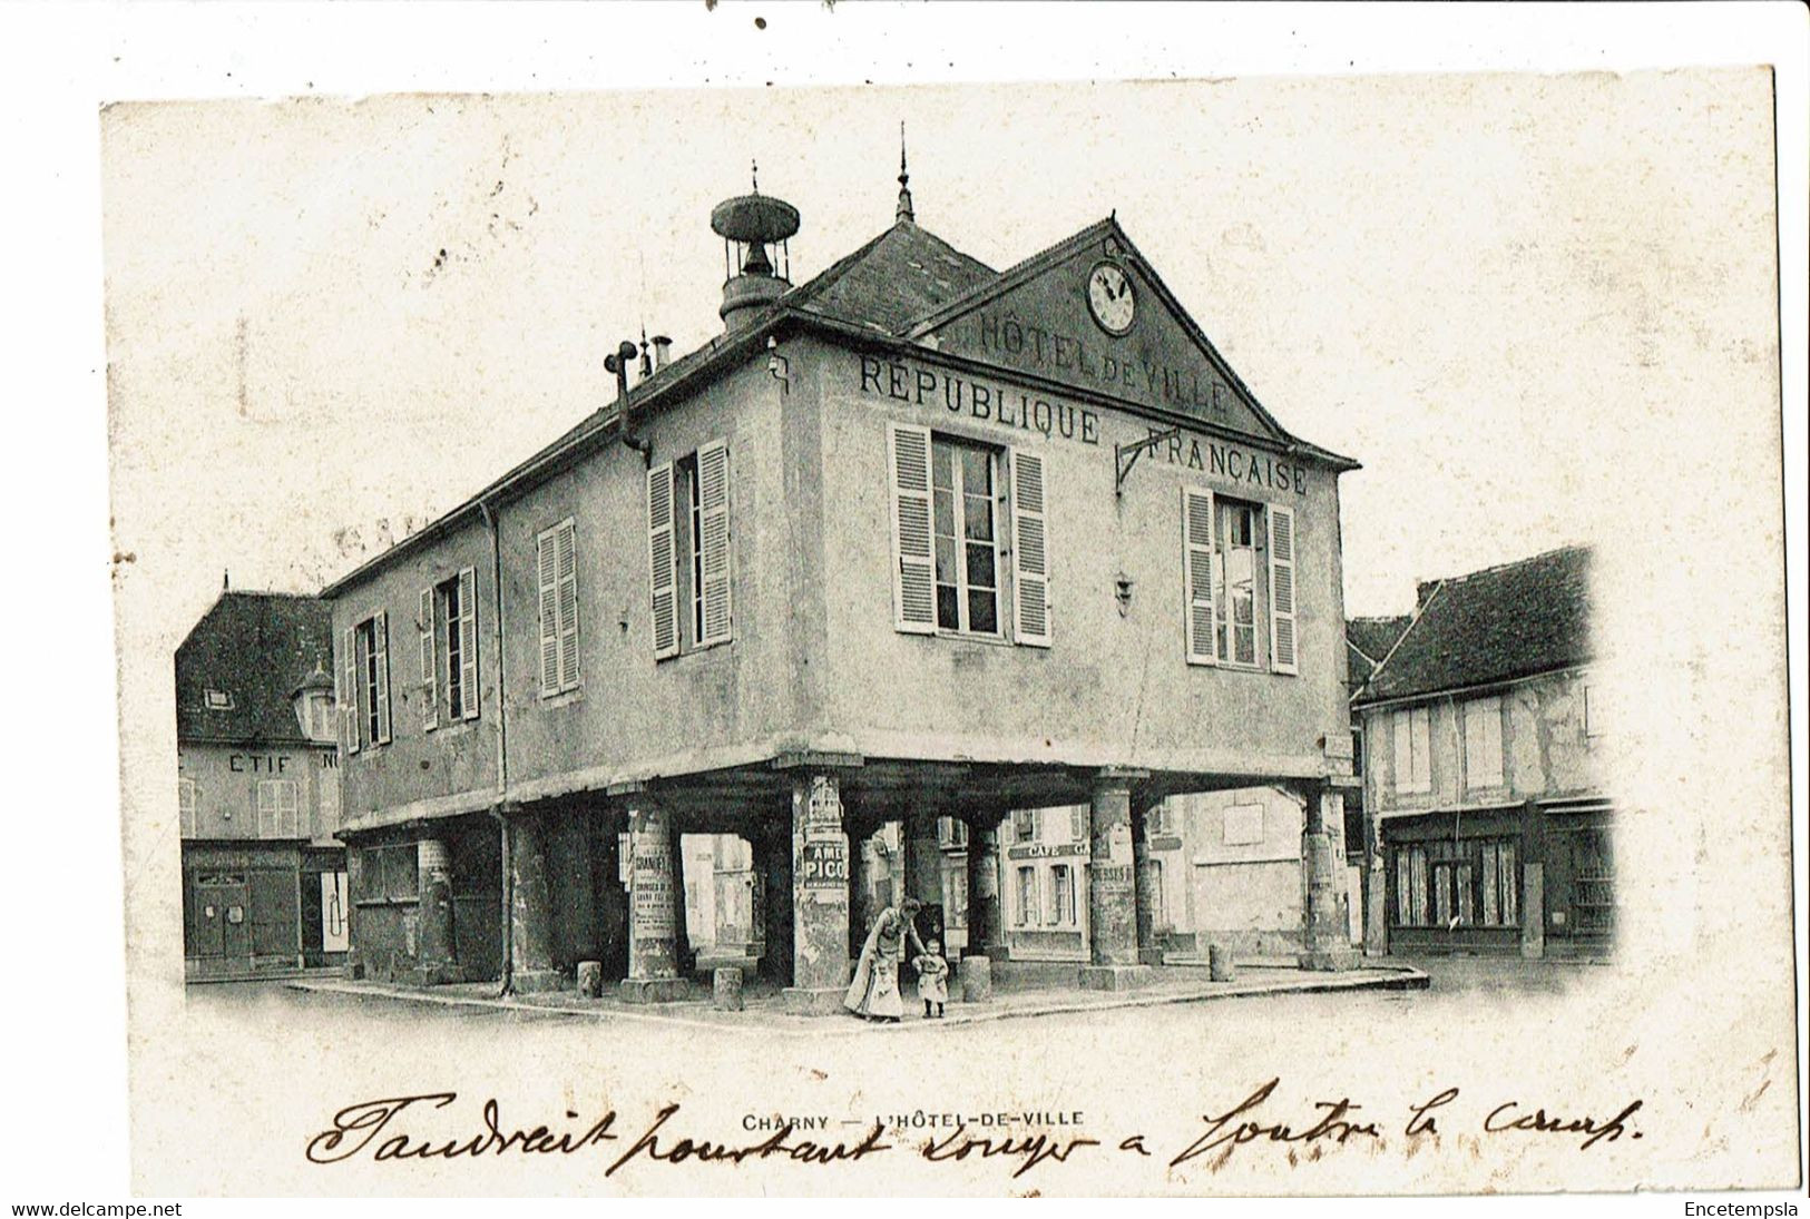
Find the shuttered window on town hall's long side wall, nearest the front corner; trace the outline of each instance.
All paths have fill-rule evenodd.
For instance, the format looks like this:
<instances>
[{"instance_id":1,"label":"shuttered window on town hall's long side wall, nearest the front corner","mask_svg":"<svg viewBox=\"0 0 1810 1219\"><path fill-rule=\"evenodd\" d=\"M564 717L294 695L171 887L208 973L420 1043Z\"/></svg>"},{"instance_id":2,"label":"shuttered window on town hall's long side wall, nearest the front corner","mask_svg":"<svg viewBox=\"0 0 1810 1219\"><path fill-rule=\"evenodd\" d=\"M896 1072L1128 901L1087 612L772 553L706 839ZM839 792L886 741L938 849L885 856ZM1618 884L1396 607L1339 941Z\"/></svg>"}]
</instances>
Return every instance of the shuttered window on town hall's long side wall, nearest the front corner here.
<instances>
[{"instance_id":1,"label":"shuttered window on town hall's long side wall, nearest the front corner","mask_svg":"<svg viewBox=\"0 0 1810 1219\"><path fill-rule=\"evenodd\" d=\"M729 449L711 441L648 470L653 658L729 642Z\"/></svg>"}]
</instances>

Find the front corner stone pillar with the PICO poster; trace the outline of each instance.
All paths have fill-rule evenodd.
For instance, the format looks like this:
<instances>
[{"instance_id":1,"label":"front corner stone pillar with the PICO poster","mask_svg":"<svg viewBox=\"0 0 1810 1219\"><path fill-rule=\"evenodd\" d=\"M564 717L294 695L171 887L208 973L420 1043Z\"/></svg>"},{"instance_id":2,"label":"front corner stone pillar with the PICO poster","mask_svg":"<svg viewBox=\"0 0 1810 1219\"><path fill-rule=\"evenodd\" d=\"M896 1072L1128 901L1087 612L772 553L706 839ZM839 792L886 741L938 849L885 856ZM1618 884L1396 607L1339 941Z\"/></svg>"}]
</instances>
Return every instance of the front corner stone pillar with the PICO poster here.
<instances>
[{"instance_id":1,"label":"front corner stone pillar with the PICO poster","mask_svg":"<svg viewBox=\"0 0 1810 1219\"><path fill-rule=\"evenodd\" d=\"M834 774L793 781L793 982L786 1007L842 1011L849 987L849 837Z\"/></svg>"}]
</instances>

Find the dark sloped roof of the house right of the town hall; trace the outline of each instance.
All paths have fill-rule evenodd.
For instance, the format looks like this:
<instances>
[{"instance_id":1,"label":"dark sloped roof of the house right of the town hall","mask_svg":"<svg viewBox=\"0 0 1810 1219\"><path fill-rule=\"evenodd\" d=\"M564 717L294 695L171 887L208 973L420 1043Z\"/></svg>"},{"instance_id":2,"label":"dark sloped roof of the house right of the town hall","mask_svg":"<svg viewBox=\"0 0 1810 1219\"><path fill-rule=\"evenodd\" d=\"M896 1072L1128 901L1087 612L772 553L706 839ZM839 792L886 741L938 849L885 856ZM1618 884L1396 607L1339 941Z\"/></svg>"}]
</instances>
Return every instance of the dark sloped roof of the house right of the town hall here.
<instances>
[{"instance_id":1,"label":"dark sloped roof of the house right of the town hall","mask_svg":"<svg viewBox=\"0 0 1810 1219\"><path fill-rule=\"evenodd\" d=\"M1439 581L1356 704L1414 698L1591 660L1591 552L1549 550Z\"/></svg>"}]
</instances>

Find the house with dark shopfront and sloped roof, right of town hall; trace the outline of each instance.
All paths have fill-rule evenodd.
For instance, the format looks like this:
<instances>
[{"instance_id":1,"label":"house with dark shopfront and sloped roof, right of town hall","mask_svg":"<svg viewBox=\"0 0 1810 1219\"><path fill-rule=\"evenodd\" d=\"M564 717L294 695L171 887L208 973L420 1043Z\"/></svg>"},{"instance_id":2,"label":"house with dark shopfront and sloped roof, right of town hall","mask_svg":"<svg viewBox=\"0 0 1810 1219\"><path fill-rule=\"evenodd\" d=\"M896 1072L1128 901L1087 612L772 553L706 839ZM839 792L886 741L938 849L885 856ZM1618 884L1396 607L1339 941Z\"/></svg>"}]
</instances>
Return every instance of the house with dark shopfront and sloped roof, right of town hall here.
<instances>
[{"instance_id":1,"label":"house with dark shopfront and sloped roof, right of town hall","mask_svg":"<svg viewBox=\"0 0 1810 1219\"><path fill-rule=\"evenodd\" d=\"M1354 707L1372 950L1600 955L1615 814L1591 765L1589 570L1553 550L1419 586Z\"/></svg>"}]
</instances>

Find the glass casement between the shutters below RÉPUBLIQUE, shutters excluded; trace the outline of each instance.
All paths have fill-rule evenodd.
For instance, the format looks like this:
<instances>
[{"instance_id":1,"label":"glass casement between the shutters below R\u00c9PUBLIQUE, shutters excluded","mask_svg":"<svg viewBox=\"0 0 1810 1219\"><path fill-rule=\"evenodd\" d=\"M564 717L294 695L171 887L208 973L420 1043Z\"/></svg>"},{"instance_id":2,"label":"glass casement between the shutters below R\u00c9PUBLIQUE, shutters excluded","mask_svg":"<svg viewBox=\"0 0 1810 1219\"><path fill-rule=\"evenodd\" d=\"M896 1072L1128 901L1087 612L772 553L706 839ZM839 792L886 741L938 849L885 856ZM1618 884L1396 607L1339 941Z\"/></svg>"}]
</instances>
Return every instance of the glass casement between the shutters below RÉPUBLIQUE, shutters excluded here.
<instances>
[{"instance_id":1,"label":"glass casement between the shutters below R\u00c9PUBLIQUE, shutters excluded","mask_svg":"<svg viewBox=\"0 0 1810 1219\"><path fill-rule=\"evenodd\" d=\"M994 450L930 441L936 546L936 626L999 633L999 539L994 528Z\"/></svg>"}]
</instances>

